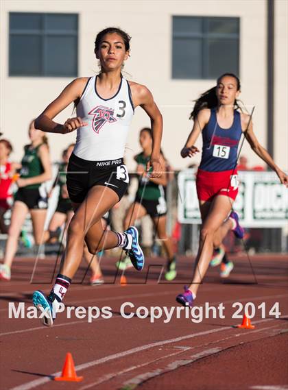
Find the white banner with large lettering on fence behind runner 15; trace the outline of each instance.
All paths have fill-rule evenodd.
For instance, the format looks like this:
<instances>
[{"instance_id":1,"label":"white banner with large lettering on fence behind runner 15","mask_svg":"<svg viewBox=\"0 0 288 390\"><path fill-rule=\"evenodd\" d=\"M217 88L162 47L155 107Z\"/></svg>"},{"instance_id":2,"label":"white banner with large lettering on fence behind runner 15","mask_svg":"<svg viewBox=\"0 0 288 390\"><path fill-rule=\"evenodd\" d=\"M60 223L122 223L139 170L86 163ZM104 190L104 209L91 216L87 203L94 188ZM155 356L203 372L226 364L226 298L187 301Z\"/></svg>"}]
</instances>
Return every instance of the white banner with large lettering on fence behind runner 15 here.
<instances>
[{"instance_id":1,"label":"white banner with large lettering on fence behind runner 15","mask_svg":"<svg viewBox=\"0 0 288 390\"><path fill-rule=\"evenodd\" d=\"M233 208L246 228L280 228L287 224L288 190L274 172L240 171ZM178 175L178 219L201 223L193 169Z\"/></svg>"}]
</instances>

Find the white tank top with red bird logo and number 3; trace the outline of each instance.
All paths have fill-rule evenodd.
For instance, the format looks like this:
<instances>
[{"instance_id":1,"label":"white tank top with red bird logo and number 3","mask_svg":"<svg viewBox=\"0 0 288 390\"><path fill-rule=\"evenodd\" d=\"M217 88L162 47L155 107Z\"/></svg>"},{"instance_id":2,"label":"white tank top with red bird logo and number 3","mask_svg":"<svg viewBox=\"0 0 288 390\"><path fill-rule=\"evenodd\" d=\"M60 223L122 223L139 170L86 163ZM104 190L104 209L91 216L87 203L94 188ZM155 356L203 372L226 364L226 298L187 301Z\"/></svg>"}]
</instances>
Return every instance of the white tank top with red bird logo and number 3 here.
<instances>
[{"instance_id":1,"label":"white tank top with red bird logo and number 3","mask_svg":"<svg viewBox=\"0 0 288 390\"><path fill-rule=\"evenodd\" d=\"M97 93L97 76L91 77L77 104L77 117L88 125L77 129L73 153L84 160L123 158L134 107L128 81L123 77L117 93L103 99Z\"/></svg>"}]
</instances>

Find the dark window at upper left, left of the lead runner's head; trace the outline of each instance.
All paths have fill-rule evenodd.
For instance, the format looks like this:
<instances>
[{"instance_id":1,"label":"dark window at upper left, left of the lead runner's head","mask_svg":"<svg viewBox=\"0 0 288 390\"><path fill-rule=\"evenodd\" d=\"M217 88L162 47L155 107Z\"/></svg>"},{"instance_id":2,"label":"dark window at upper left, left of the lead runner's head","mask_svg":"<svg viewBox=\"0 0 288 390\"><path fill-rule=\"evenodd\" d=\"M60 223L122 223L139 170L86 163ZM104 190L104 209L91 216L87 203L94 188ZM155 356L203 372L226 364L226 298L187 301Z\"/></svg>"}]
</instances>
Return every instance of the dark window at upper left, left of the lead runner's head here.
<instances>
[{"instance_id":1,"label":"dark window at upper left, left of the lead runner's head","mask_svg":"<svg viewBox=\"0 0 288 390\"><path fill-rule=\"evenodd\" d=\"M77 76L77 14L10 12L10 76Z\"/></svg>"}]
</instances>

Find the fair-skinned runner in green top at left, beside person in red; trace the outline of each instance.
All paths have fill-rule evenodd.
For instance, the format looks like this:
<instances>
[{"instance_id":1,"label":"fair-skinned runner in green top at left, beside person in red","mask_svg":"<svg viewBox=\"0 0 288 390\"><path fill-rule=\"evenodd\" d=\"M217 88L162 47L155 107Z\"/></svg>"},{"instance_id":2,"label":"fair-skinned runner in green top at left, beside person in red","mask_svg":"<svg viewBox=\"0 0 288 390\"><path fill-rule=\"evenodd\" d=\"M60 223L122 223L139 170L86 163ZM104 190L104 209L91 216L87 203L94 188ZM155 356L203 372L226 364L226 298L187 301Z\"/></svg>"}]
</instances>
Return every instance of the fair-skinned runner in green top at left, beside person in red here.
<instances>
[{"instance_id":1,"label":"fair-skinned runner in green top at left, beside person in red","mask_svg":"<svg viewBox=\"0 0 288 390\"><path fill-rule=\"evenodd\" d=\"M29 124L31 143L25 145L21 161L19 189L14 197L8 240L3 264L0 265L0 280L10 280L11 266L18 247L21 228L29 212L32 218L36 245L40 245L47 214L47 194L41 184L51 179L51 162L45 133L36 130L34 120Z\"/></svg>"}]
</instances>

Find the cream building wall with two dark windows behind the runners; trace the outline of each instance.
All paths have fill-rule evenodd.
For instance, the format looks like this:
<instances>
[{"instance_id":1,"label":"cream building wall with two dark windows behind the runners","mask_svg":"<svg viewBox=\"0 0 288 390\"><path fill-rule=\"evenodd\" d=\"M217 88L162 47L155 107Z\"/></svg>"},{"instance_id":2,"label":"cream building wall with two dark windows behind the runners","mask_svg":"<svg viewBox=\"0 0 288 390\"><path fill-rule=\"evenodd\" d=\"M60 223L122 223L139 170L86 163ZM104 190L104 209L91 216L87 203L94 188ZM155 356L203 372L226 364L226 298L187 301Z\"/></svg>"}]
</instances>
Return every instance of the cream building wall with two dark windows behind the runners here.
<instances>
[{"instance_id":1,"label":"cream building wall with two dark windows behind the runners","mask_svg":"<svg viewBox=\"0 0 288 390\"><path fill-rule=\"evenodd\" d=\"M67 8L69 4L69 8ZM187 167L191 160L180 158L180 149L191 130L189 112L193 99L211 88L215 80L172 80L171 44L172 16L237 16L240 22L241 99L248 110L255 106L254 130L266 145L266 1L264 0L205 0L205 1L1 1L1 131L14 145L14 158L19 160L22 147L28 142L27 125L53 100L71 80L59 77L8 77L8 17L9 12L77 12L79 14L79 76L97 73L93 53L95 34L108 25L125 29L132 36L131 56L125 64L125 77L145 84L154 95L163 113L163 150L173 167ZM276 162L287 167L287 120L283 121L278 103L287 101L287 2L276 1ZM281 22L282 21L282 22ZM286 34L286 36L285 36ZM225 70L224 70L225 71ZM286 79L285 79L286 77ZM72 107L58 117L71 117ZM278 114L279 113L279 114ZM287 114L286 114L287 115ZM139 150L138 133L149 125L149 119L137 108L128 138L127 161L133 167L132 156ZM74 141L75 135L49 134L52 160L60 158L61 150ZM201 141L197 141L201 145ZM259 164L244 143L243 154L250 164Z\"/></svg>"}]
</instances>

